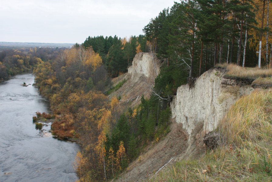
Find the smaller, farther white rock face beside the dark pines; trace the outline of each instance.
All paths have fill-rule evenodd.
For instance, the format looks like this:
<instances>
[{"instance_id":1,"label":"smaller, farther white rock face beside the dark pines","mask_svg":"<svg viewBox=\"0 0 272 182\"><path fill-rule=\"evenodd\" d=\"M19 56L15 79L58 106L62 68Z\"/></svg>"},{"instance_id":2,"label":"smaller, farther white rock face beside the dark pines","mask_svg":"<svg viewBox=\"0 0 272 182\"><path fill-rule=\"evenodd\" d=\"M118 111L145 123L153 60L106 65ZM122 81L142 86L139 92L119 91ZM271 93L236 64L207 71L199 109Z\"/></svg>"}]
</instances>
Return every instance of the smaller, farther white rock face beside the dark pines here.
<instances>
[{"instance_id":1,"label":"smaller, farther white rock face beside the dark pines","mask_svg":"<svg viewBox=\"0 0 272 182\"><path fill-rule=\"evenodd\" d=\"M139 75L143 74L146 77L155 80L160 71L160 62L155 55L140 52L133 58L132 66L128 68L128 73Z\"/></svg>"}]
</instances>

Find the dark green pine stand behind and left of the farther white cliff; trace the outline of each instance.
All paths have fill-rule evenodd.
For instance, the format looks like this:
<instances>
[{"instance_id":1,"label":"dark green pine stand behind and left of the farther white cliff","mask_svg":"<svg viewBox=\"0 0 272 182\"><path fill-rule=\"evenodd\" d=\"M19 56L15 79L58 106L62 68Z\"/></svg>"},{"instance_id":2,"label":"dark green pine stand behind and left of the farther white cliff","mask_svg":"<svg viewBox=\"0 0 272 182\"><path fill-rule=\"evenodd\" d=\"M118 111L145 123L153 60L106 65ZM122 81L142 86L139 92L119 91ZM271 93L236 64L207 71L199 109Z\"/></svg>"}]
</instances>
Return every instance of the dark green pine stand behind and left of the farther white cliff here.
<instances>
[{"instance_id":1,"label":"dark green pine stand behind and left of the farther white cliff","mask_svg":"<svg viewBox=\"0 0 272 182\"><path fill-rule=\"evenodd\" d=\"M146 37L144 35L131 36L128 39L117 37L88 37L82 43L84 48L92 47L103 60L111 77L125 73L138 52L146 51Z\"/></svg>"}]
</instances>

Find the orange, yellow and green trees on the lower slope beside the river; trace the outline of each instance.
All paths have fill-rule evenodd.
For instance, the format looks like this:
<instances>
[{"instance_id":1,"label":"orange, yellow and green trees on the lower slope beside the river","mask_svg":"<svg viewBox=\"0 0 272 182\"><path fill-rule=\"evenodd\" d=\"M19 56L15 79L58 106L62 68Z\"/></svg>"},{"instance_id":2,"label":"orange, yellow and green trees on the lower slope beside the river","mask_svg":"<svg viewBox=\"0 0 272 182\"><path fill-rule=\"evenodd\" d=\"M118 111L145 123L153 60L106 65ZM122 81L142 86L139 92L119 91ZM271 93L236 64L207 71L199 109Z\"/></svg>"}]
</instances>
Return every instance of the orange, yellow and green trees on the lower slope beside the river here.
<instances>
[{"instance_id":1,"label":"orange, yellow and green trees on the lower slope beside the river","mask_svg":"<svg viewBox=\"0 0 272 182\"><path fill-rule=\"evenodd\" d=\"M125 51L129 45L125 40L123 44ZM80 181L115 177L146 143L155 136L163 137L169 124L169 110L165 112L165 105L156 98L142 97L139 107L123 111L116 96L104 95L101 91L107 90L108 78L102 62L92 47L79 46L60 52L34 70L39 91L50 100L55 115L53 134L82 144L75 162Z\"/></svg>"}]
</instances>

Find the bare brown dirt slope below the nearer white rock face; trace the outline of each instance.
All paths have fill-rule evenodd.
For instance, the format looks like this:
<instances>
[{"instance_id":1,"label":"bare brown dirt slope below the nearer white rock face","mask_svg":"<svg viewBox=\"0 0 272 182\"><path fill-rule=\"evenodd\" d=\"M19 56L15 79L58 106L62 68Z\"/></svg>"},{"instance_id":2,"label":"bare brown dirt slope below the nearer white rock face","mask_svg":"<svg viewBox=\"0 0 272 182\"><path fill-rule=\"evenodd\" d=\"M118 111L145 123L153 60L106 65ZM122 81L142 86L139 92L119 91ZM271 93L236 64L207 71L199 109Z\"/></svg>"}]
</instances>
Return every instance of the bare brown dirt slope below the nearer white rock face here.
<instances>
[{"instance_id":1,"label":"bare brown dirt slope below the nearer white rock face","mask_svg":"<svg viewBox=\"0 0 272 182\"><path fill-rule=\"evenodd\" d=\"M176 123L172 119L170 133L163 140L146 147L146 151L131 162L126 171L119 176L119 179L114 181L147 181L162 167L171 165L177 160L203 153L205 147L202 128L203 125L195 127L191 134L192 140L189 142L189 135L182 128L182 124ZM191 153L188 154L187 151L191 151ZM164 168L161 170L164 170Z\"/></svg>"}]
</instances>

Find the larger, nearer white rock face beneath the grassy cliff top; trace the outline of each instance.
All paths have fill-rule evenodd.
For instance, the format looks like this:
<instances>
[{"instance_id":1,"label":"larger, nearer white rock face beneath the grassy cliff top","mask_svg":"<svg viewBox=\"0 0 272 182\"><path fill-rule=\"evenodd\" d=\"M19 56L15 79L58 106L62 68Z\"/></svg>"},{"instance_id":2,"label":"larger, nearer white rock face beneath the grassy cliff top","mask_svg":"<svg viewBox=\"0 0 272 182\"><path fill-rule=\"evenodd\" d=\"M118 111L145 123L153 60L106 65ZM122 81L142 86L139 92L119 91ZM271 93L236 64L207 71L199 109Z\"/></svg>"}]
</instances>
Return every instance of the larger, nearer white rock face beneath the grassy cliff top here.
<instances>
[{"instance_id":1,"label":"larger, nearer white rock face beneath the grassy cliff top","mask_svg":"<svg viewBox=\"0 0 272 182\"><path fill-rule=\"evenodd\" d=\"M253 91L250 85L238 86L235 80L223 78L224 74L220 70L208 70L191 90L188 85L178 87L170 105L176 122L182 123L188 134L200 122L204 123L205 133L212 131L238 98Z\"/></svg>"}]
</instances>

